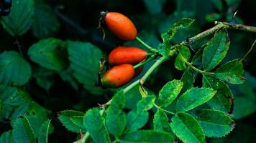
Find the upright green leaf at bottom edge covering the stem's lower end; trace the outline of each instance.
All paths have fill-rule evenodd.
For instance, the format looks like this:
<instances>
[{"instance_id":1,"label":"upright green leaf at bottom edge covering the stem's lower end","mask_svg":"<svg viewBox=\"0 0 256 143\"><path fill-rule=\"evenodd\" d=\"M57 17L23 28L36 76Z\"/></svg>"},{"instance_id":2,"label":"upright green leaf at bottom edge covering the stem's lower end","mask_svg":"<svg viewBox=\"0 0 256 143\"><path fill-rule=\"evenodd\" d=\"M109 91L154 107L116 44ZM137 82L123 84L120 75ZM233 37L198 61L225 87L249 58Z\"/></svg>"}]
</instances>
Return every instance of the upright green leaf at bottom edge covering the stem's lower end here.
<instances>
[{"instance_id":1,"label":"upright green leaf at bottom edge covering the stem's lower end","mask_svg":"<svg viewBox=\"0 0 256 143\"><path fill-rule=\"evenodd\" d=\"M98 108L89 109L83 117L83 124L90 133L94 142L110 142L109 134L106 132L104 119Z\"/></svg>"}]
</instances>

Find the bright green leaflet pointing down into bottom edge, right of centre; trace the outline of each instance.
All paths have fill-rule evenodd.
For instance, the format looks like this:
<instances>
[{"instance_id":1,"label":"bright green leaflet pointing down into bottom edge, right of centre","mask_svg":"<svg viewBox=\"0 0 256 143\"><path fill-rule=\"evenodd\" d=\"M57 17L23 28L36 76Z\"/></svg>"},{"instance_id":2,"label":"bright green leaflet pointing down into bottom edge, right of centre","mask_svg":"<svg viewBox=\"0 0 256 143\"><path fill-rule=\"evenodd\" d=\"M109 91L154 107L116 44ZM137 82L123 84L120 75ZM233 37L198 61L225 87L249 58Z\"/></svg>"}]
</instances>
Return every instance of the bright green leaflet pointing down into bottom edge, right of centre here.
<instances>
[{"instance_id":1,"label":"bright green leaflet pointing down into bottom edge, right of centre","mask_svg":"<svg viewBox=\"0 0 256 143\"><path fill-rule=\"evenodd\" d=\"M190 114L179 112L172 118L170 127L182 142L206 142L203 129Z\"/></svg>"}]
</instances>

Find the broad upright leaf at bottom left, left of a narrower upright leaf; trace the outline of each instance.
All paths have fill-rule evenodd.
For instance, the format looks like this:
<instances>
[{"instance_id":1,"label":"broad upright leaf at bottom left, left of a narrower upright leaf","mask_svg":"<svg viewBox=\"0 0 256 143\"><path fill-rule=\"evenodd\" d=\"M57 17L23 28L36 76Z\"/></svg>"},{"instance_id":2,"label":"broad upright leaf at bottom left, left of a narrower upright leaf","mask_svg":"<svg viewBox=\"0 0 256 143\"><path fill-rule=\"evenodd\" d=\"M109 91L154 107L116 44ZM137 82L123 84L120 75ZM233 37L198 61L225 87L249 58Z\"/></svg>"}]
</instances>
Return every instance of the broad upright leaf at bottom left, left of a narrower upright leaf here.
<instances>
[{"instance_id":1,"label":"broad upright leaf at bottom left, left of a narrower upright leaf","mask_svg":"<svg viewBox=\"0 0 256 143\"><path fill-rule=\"evenodd\" d=\"M35 134L29 124L27 117L19 117L13 126L14 142L17 143L36 143Z\"/></svg>"}]
</instances>

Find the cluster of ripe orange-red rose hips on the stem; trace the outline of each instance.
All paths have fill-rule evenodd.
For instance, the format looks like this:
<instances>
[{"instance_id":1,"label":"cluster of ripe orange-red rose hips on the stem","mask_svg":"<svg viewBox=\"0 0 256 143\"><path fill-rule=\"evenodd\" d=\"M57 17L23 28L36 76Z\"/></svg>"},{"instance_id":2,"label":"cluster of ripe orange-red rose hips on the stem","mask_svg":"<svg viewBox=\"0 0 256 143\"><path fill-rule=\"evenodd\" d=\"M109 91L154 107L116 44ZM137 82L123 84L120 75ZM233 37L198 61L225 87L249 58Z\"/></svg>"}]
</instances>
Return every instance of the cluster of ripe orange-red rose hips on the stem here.
<instances>
[{"instance_id":1,"label":"cluster of ripe orange-red rose hips on the stem","mask_svg":"<svg viewBox=\"0 0 256 143\"><path fill-rule=\"evenodd\" d=\"M108 29L119 39L129 41L136 38L137 29L127 16L117 12L102 12L101 15ZM147 51L134 46L114 48L108 57L111 68L101 78L101 85L115 88L130 82L143 68L134 69L134 65L147 59L147 54Z\"/></svg>"}]
</instances>

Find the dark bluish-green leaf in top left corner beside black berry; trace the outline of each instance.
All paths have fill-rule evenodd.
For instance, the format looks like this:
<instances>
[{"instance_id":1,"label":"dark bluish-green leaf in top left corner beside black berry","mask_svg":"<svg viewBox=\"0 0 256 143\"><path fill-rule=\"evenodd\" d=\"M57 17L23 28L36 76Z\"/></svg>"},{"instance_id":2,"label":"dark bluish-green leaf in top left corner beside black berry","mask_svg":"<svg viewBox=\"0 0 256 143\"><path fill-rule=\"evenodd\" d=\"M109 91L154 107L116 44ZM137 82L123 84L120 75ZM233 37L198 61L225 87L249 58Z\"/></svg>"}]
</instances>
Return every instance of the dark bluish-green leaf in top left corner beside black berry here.
<instances>
[{"instance_id":1,"label":"dark bluish-green leaf in top left corner beside black berry","mask_svg":"<svg viewBox=\"0 0 256 143\"><path fill-rule=\"evenodd\" d=\"M21 36L31 27L34 10L34 0L12 0L11 13L1 19L1 24L10 35Z\"/></svg>"}]
</instances>

